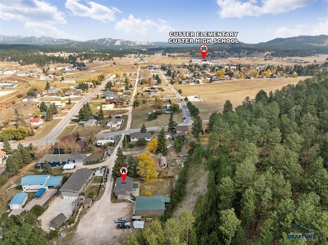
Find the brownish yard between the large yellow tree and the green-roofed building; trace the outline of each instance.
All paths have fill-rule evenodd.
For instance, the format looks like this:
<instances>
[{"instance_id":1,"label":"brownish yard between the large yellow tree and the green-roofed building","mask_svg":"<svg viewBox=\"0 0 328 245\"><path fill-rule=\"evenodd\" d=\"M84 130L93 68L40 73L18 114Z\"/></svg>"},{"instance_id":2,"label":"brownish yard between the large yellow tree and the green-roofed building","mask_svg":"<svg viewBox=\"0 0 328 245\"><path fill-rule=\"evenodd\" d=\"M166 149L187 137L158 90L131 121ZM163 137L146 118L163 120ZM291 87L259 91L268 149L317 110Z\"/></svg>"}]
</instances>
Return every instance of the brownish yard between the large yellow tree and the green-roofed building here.
<instances>
[{"instance_id":1,"label":"brownish yard between the large yellow tree and the green-roofed building","mask_svg":"<svg viewBox=\"0 0 328 245\"><path fill-rule=\"evenodd\" d=\"M140 195L150 191L152 195L171 196L172 179L159 179L152 183L140 183Z\"/></svg>"}]
</instances>

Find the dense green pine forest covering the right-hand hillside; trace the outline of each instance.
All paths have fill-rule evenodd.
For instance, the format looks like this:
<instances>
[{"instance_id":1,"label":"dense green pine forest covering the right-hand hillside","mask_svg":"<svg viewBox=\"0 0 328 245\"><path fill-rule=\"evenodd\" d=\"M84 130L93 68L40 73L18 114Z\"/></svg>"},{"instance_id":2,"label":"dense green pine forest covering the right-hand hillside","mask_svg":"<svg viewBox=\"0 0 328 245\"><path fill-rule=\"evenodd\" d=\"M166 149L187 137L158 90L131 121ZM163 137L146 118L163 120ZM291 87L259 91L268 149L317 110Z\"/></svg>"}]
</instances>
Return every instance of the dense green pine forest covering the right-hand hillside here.
<instances>
[{"instance_id":1,"label":"dense green pine forest covering the right-hand hillside","mask_svg":"<svg viewBox=\"0 0 328 245\"><path fill-rule=\"evenodd\" d=\"M208 146L192 142L185 162L181 180L193 165L210 171L194 215L170 218L188 195L180 181L162 222L128 244L328 244L327 98L323 72L235 110L227 101L209 119Z\"/></svg>"}]
</instances>

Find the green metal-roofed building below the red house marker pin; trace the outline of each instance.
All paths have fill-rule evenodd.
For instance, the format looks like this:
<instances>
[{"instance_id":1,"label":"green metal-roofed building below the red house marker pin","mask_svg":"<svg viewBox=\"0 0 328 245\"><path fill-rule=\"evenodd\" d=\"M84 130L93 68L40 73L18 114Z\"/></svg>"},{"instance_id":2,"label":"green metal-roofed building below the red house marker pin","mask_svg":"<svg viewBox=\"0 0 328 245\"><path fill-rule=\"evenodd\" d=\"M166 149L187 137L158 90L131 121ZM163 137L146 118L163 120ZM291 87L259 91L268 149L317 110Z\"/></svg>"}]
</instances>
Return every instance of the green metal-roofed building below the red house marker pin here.
<instances>
[{"instance_id":1,"label":"green metal-roofed building below the red house marker pin","mask_svg":"<svg viewBox=\"0 0 328 245\"><path fill-rule=\"evenodd\" d=\"M171 197L163 195L137 196L133 215L164 215Z\"/></svg>"}]
</instances>

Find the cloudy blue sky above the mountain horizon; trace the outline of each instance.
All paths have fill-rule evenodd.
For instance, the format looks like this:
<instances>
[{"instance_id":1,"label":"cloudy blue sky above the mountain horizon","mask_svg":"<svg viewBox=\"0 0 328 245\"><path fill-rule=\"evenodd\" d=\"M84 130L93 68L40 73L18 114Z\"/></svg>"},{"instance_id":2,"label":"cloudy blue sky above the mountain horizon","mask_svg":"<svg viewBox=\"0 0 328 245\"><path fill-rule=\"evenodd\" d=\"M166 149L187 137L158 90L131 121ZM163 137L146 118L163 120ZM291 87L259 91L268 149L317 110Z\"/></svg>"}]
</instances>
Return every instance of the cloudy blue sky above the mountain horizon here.
<instances>
[{"instance_id":1,"label":"cloudy blue sky above the mountain horizon","mask_svg":"<svg viewBox=\"0 0 328 245\"><path fill-rule=\"evenodd\" d=\"M238 32L245 43L328 35L328 0L0 0L0 34L168 41L170 32Z\"/></svg>"}]
</instances>

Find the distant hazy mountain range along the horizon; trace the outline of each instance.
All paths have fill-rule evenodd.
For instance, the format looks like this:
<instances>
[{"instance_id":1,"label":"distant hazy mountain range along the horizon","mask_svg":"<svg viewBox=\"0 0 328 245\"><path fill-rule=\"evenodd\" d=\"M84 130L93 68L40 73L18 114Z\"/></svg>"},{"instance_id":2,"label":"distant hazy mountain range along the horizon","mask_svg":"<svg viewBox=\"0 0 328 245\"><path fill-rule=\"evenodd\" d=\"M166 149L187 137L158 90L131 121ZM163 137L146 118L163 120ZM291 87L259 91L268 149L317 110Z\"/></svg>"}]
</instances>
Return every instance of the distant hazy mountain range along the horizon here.
<instances>
[{"instance_id":1,"label":"distant hazy mountain range along the horizon","mask_svg":"<svg viewBox=\"0 0 328 245\"><path fill-rule=\"evenodd\" d=\"M76 41L71 39L53 38L47 36L7 36L0 34L0 44L30 44L30 45L46 45L56 44L73 47L84 48L152 48L152 47L187 47L197 46L195 44L170 44L168 42L150 42L150 41L129 41L114 38L100 38L88 41ZM248 44L239 41L239 44L213 44L213 46L226 47L263 47L263 48L280 48L296 49L328 47L328 35L319 36L297 36L289 38L275 38L267 42L259 42Z\"/></svg>"}]
</instances>

